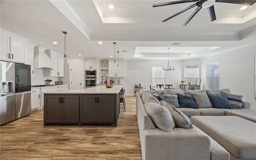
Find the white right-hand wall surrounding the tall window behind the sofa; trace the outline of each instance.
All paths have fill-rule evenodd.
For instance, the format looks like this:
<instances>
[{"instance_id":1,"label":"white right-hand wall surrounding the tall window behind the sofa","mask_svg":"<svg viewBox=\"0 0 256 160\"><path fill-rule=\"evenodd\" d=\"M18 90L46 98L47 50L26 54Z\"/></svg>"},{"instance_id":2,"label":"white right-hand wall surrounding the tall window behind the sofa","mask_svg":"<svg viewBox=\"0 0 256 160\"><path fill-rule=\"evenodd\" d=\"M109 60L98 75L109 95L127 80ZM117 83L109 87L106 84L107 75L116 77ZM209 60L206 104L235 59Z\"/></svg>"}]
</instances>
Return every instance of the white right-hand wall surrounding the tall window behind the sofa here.
<instances>
[{"instance_id":1,"label":"white right-hand wall surrounding the tall window behind the sofa","mask_svg":"<svg viewBox=\"0 0 256 160\"><path fill-rule=\"evenodd\" d=\"M202 88L206 89L206 64L220 61L220 88L243 95L244 101L254 99L254 54L256 45L231 50L226 53L202 58ZM242 82L238 82L238 78Z\"/></svg>"}]
</instances>

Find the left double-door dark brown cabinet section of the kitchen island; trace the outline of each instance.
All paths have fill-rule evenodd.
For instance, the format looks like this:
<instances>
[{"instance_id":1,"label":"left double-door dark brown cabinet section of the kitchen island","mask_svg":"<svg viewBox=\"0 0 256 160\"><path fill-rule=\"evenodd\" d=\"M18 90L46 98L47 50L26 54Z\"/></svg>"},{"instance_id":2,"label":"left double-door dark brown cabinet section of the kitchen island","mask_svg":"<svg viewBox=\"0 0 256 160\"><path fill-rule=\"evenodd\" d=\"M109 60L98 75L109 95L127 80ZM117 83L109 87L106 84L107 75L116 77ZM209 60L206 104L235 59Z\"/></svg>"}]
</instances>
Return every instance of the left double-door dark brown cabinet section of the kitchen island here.
<instances>
[{"instance_id":1,"label":"left double-door dark brown cabinet section of the kitchen island","mask_svg":"<svg viewBox=\"0 0 256 160\"><path fill-rule=\"evenodd\" d=\"M79 122L79 95L44 94L44 126Z\"/></svg>"}]
</instances>

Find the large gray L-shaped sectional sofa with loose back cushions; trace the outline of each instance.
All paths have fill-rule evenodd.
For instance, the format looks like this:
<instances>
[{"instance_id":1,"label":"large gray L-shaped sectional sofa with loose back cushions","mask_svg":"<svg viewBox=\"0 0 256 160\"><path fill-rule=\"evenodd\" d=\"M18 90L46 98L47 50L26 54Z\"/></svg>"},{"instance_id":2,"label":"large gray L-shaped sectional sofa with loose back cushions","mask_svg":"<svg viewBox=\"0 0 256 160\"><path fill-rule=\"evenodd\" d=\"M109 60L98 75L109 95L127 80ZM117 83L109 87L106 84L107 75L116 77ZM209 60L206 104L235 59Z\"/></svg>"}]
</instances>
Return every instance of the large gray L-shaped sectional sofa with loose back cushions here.
<instances>
[{"instance_id":1,"label":"large gray L-shaped sectional sofa with loose back cushions","mask_svg":"<svg viewBox=\"0 0 256 160\"><path fill-rule=\"evenodd\" d=\"M242 102L242 109L222 109L210 106L207 108L204 106L178 108L182 112L178 114L180 111L174 111L175 107L168 108L166 107L167 102L159 101L157 98L157 95L162 96L164 94L178 94L179 96L195 93L222 95L222 92L230 94L229 89L195 91L171 89L149 91L142 89L140 92L136 92L136 114L143 160L230 160L230 153L197 126L191 124L192 127L190 127L189 123L183 127L180 125L189 121L186 117L189 119L191 116L225 115L240 116L255 123L256 110L250 109L250 103ZM167 112L168 110L169 112ZM183 119L177 121L176 114ZM186 117L182 117L182 114L185 114ZM231 159L239 158L232 157Z\"/></svg>"}]
</instances>

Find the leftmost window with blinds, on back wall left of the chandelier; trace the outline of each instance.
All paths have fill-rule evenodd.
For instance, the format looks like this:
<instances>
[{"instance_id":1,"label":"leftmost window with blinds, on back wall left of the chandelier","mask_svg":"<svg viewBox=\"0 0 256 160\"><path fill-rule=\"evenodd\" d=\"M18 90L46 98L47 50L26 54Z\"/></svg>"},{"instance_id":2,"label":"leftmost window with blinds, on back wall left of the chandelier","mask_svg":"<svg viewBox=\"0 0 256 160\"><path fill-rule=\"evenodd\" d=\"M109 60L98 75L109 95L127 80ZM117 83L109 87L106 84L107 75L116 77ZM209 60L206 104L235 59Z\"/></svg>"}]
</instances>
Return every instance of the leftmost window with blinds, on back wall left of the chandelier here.
<instances>
[{"instance_id":1,"label":"leftmost window with blinds, on back wall left of the chandelier","mask_svg":"<svg viewBox=\"0 0 256 160\"><path fill-rule=\"evenodd\" d=\"M152 68L152 86L156 88L156 84L164 84L164 70L160 66Z\"/></svg>"}]
</instances>

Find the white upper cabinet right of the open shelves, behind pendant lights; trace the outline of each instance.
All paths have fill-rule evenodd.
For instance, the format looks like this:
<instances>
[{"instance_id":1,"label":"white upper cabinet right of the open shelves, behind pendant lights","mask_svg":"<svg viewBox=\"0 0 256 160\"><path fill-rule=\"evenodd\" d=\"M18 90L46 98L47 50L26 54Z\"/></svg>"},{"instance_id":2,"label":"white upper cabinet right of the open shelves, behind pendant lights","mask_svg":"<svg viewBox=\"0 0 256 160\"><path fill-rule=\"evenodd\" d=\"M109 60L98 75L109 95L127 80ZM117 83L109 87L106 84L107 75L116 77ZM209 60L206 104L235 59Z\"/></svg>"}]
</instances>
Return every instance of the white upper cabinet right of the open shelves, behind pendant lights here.
<instances>
[{"instance_id":1,"label":"white upper cabinet right of the open shelves, behind pendant lights","mask_svg":"<svg viewBox=\"0 0 256 160\"><path fill-rule=\"evenodd\" d=\"M113 59L108 60L108 76L109 77L124 77L124 59L118 60L118 65L120 69L116 66L112 66ZM117 60L116 60L117 62Z\"/></svg>"}]
</instances>

